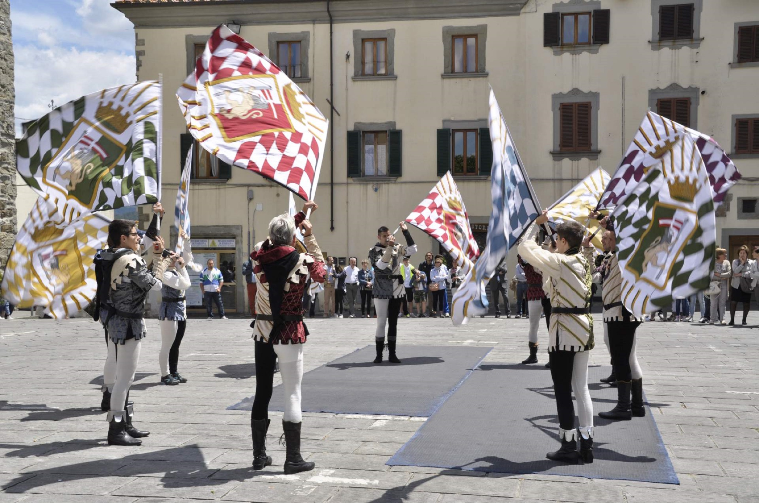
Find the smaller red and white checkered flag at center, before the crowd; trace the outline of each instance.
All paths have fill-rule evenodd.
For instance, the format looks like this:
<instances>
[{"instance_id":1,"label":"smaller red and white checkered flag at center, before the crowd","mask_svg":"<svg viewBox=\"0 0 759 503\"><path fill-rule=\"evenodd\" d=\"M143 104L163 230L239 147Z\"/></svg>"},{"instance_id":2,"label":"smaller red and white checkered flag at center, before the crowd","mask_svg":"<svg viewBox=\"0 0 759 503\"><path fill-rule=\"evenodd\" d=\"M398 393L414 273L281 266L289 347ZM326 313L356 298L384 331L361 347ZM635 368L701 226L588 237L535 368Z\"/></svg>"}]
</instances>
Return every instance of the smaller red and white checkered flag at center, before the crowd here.
<instances>
[{"instance_id":1,"label":"smaller red and white checkered flag at center, before the crowd","mask_svg":"<svg viewBox=\"0 0 759 503\"><path fill-rule=\"evenodd\" d=\"M406 218L408 223L437 239L464 273L480 255L469 215L451 172L435 184L430 194Z\"/></svg>"}]
</instances>

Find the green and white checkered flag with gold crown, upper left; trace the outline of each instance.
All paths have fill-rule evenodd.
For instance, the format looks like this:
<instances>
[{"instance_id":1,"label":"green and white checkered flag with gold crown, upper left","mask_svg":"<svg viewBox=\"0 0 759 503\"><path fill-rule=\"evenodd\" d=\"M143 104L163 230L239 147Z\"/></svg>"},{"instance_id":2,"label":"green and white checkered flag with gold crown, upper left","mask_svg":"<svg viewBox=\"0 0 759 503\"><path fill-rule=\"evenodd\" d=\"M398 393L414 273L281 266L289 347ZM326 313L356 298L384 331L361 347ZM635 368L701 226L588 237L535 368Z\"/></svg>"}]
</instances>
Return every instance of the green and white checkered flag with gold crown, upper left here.
<instances>
[{"instance_id":1,"label":"green and white checkered flag with gold crown, upper left","mask_svg":"<svg viewBox=\"0 0 759 503\"><path fill-rule=\"evenodd\" d=\"M103 89L24 124L17 169L69 221L159 200L161 84Z\"/></svg>"}]
</instances>

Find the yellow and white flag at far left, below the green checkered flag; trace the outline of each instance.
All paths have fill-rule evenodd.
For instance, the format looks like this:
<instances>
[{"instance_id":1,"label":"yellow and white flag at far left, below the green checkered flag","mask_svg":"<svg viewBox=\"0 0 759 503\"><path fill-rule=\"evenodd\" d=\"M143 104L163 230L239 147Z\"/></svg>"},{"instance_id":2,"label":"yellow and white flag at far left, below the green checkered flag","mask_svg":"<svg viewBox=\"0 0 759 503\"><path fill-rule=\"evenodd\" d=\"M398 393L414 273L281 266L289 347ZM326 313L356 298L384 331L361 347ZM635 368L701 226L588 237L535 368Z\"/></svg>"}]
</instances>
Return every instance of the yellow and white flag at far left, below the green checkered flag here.
<instances>
[{"instance_id":1,"label":"yellow and white flag at far left, below the green checkered flag","mask_svg":"<svg viewBox=\"0 0 759 503\"><path fill-rule=\"evenodd\" d=\"M16 236L3 296L20 308L45 306L55 318L87 308L97 288L93 258L106 245L109 223L93 213L66 220L51 198L39 197Z\"/></svg>"}]
</instances>

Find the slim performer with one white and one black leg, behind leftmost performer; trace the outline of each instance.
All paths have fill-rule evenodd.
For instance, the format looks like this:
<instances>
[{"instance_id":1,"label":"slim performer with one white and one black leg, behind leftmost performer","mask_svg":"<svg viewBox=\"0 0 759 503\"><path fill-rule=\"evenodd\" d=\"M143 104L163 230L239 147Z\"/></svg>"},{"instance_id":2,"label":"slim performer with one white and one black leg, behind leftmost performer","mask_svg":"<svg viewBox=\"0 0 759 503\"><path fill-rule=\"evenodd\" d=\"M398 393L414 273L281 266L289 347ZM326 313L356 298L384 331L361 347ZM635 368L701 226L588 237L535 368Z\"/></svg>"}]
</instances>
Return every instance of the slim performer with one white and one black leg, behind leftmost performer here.
<instances>
[{"instance_id":1,"label":"slim performer with one white and one black leg, behind leftmost performer","mask_svg":"<svg viewBox=\"0 0 759 503\"><path fill-rule=\"evenodd\" d=\"M182 255L174 258L171 267L163 273L161 289L161 307L158 312L161 326L161 383L173 386L187 383L187 379L177 371L179 345L187 327L187 311L184 302L184 290L190 288L190 276L185 264L192 261L190 239L184 240Z\"/></svg>"}]
</instances>

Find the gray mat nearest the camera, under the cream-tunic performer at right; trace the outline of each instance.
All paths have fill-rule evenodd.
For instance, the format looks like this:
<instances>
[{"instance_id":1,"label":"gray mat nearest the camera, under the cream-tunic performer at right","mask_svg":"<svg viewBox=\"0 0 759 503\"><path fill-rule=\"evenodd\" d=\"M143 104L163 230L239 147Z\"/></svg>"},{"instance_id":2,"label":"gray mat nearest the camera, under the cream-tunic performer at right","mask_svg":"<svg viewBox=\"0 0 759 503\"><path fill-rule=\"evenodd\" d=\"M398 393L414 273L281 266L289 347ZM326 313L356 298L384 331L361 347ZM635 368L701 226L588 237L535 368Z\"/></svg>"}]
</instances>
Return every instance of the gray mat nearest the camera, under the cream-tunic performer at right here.
<instances>
[{"instance_id":1,"label":"gray mat nearest the camera, under the cream-tunic performer at right","mask_svg":"<svg viewBox=\"0 0 759 503\"><path fill-rule=\"evenodd\" d=\"M589 369L593 464L545 458L560 447L550 370L490 362L472 372L387 464L679 484L648 407L646 417L630 421L598 417L616 405L616 388L598 382L610 370Z\"/></svg>"}]
</instances>

